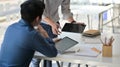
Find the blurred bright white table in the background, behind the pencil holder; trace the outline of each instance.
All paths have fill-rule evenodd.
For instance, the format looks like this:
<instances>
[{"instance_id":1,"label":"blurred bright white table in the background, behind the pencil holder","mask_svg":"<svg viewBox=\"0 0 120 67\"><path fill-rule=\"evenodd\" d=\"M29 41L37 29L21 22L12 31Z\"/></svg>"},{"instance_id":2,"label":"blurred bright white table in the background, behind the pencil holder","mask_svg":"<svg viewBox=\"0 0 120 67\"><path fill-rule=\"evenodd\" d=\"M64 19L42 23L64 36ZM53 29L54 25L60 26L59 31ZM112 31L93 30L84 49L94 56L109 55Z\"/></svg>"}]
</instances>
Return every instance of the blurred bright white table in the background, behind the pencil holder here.
<instances>
[{"instance_id":1,"label":"blurred bright white table in the background, behind the pencil holder","mask_svg":"<svg viewBox=\"0 0 120 67\"><path fill-rule=\"evenodd\" d=\"M72 5L71 9L73 14L83 14L88 16L88 26L89 29L91 28L90 26L90 16L91 15L98 15L98 29L102 30L103 26L103 13L109 9L111 9L113 5L108 5L108 6L98 6L98 5Z\"/></svg>"}]
</instances>

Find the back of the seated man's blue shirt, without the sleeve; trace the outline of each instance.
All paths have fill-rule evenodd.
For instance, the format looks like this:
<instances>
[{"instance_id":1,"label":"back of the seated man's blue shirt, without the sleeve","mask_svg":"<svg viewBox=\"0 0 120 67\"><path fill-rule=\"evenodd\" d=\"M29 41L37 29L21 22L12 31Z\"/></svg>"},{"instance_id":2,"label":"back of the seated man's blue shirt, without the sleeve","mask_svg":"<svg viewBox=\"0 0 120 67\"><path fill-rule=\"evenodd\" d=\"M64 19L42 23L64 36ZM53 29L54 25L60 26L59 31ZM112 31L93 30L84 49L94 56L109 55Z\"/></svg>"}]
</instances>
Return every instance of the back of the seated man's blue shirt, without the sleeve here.
<instances>
[{"instance_id":1,"label":"back of the seated man's blue shirt, without the sleeve","mask_svg":"<svg viewBox=\"0 0 120 67\"><path fill-rule=\"evenodd\" d=\"M2 59L0 60L8 63L8 66L12 66L12 64L13 66L20 66L19 64L14 63L28 65L27 62L30 62L34 54L34 50L31 48L32 36L34 35L30 34L32 31L33 29L31 28L30 30L30 27L27 25L25 26L24 23L16 23L11 25L6 31L4 41L1 46L0 58ZM26 59L29 59L29 61Z\"/></svg>"}]
</instances>

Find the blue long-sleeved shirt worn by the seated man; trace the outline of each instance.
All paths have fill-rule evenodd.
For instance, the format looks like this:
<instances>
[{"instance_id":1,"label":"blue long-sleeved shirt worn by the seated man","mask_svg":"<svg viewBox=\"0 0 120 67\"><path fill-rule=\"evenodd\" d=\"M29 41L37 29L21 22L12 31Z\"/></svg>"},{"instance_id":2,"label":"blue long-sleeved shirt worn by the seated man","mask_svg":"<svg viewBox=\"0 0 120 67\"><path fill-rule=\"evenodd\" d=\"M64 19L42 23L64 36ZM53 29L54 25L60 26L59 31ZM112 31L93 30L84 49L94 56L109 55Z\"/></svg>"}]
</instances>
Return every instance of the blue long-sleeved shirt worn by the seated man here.
<instances>
[{"instance_id":1,"label":"blue long-sleeved shirt worn by the seated man","mask_svg":"<svg viewBox=\"0 0 120 67\"><path fill-rule=\"evenodd\" d=\"M55 57L57 50L50 38L43 38L24 20L10 25L0 51L0 67L29 67L34 52Z\"/></svg>"}]
</instances>

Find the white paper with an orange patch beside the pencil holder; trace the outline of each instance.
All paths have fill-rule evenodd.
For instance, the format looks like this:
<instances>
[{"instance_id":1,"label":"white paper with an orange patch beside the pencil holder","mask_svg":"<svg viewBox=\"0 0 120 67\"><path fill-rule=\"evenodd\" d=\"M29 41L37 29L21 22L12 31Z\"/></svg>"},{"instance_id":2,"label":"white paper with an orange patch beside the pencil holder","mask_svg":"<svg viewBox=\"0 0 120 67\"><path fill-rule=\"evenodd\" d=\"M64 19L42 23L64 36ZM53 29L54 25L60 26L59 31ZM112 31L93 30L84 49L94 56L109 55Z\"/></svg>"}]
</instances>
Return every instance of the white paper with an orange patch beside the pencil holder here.
<instances>
[{"instance_id":1,"label":"white paper with an orange patch beside the pencil holder","mask_svg":"<svg viewBox=\"0 0 120 67\"><path fill-rule=\"evenodd\" d=\"M75 55L97 57L100 53L101 51L95 47L82 47Z\"/></svg>"}]
</instances>

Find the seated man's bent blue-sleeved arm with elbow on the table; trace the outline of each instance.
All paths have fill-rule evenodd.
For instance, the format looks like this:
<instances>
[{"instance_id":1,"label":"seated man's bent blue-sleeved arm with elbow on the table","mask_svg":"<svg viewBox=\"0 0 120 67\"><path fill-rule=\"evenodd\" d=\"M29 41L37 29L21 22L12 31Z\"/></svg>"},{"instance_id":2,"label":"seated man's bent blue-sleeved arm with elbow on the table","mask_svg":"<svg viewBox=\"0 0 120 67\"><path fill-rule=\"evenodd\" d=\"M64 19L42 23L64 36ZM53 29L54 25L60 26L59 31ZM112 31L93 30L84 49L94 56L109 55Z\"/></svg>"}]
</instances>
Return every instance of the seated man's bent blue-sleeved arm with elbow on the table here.
<instances>
[{"instance_id":1,"label":"seated man's bent blue-sleeved arm with elbow on the table","mask_svg":"<svg viewBox=\"0 0 120 67\"><path fill-rule=\"evenodd\" d=\"M44 38L39 32L33 37L33 49L47 57L56 57L57 49L51 38Z\"/></svg>"}]
</instances>

